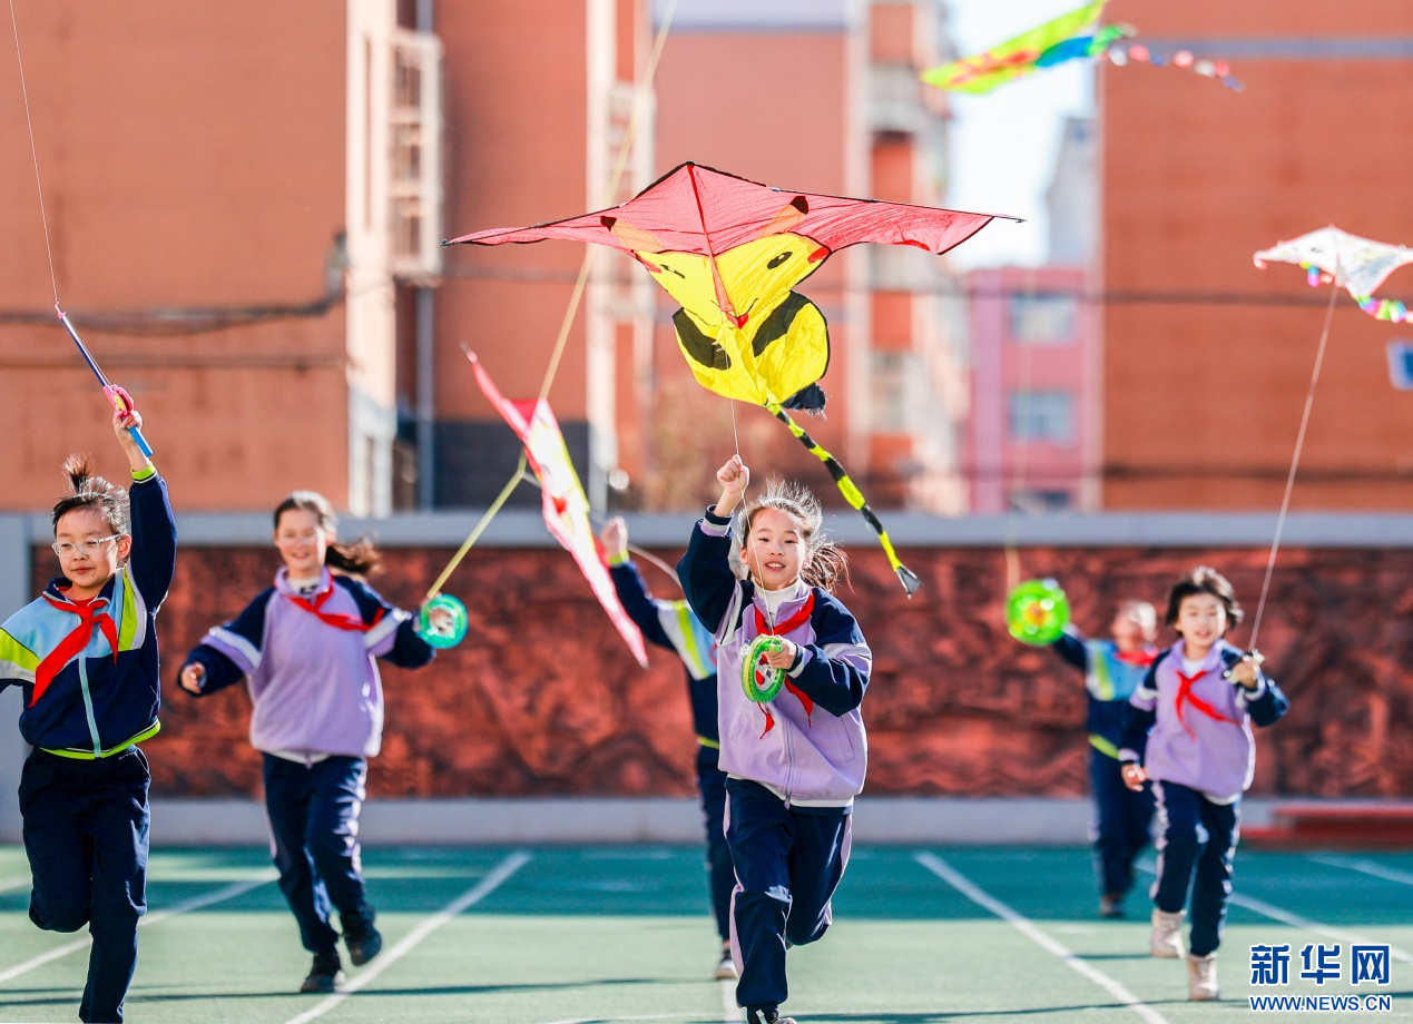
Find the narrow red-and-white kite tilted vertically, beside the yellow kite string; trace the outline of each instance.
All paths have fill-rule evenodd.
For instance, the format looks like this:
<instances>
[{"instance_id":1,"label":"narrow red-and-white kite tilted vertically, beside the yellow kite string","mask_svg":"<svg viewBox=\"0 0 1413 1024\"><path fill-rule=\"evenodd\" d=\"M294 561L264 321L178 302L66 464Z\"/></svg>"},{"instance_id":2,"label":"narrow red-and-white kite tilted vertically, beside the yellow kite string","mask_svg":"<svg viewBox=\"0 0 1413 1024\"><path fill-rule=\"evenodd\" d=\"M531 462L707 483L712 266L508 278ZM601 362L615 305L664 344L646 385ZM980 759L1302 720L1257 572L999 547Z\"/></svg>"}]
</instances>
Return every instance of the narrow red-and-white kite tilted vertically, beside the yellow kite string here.
<instances>
[{"instance_id":1,"label":"narrow red-and-white kite tilted vertically, beside the yellow kite string","mask_svg":"<svg viewBox=\"0 0 1413 1024\"><path fill-rule=\"evenodd\" d=\"M599 549L599 540L593 535L589 524L589 499L584 494L579 475L574 472L569 462L569 451L565 448L560 424L550 411L550 403L544 398L530 401L514 401L500 394L500 390L490 380L473 355L468 353L472 370L476 373L476 383L485 393L496 411L504 417L510 428L520 435L524 442L530 466L540 479L540 493L543 496L544 525L560 541L565 551L574 555L579 571L593 589L593 596L609 613L609 619L617 629L637 664L647 668L647 651L643 648L643 634L619 603L613 579L609 576L608 565ZM521 466L523 468L523 466Z\"/></svg>"}]
</instances>

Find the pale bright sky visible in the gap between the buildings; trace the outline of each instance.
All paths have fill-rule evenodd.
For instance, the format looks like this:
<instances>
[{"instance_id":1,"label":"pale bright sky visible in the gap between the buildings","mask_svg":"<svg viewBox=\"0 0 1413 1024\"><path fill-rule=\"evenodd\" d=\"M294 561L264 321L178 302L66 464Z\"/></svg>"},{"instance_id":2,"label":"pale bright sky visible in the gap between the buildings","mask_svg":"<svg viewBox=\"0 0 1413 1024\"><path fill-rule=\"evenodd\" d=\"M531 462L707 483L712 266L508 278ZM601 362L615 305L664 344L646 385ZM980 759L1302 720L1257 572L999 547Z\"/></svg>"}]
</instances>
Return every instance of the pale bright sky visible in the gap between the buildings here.
<instances>
[{"instance_id":1,"label":"pale bright sky visible in the gap between the buildings","mask_svg":"<svg viewBox=\"0 0 1413 1024\"><path fill-rule=\"evenodd\" d=\"M950 32L965 54L1033 28L1082 0L950 0ZM958 268L1034 266L1046 254L1046 189L1065 116L1094 112L1094 72L1072 61L986 96L954 95L952 181L947 205L1013 213L952 253Z\"/></svg>"}]
</instances>

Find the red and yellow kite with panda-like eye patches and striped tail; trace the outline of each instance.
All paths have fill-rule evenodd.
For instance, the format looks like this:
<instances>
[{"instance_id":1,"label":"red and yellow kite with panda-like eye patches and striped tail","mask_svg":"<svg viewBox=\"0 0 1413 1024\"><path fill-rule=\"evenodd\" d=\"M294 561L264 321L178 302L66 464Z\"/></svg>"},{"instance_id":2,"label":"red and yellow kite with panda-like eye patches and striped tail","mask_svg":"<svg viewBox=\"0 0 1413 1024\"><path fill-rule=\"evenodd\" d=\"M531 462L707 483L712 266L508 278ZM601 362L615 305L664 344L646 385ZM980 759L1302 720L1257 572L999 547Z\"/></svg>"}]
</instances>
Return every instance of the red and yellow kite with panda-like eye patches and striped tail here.
<instances>
[{"instance_id":1,"label":"red and yellow kite with panda-like eye patches and striped tail","mask_svg":"<svg viewBox=\"0 0 1413 1024\"><path fill-rule=\"evenodd\" d=\"M444 244L565 239L632 256L681 304L673 326L697 381L722 397L763 405L784 422L877 532L911 595L918 579L899 561L863 494L786 412L824 410L818 380L829 366L824 314L793 288L846 246L873 242L940 254L995 216L783 191L687 162L620 206L530 227L475 232Z\"/></svg>"}]
</instances>

